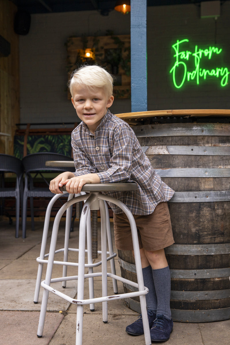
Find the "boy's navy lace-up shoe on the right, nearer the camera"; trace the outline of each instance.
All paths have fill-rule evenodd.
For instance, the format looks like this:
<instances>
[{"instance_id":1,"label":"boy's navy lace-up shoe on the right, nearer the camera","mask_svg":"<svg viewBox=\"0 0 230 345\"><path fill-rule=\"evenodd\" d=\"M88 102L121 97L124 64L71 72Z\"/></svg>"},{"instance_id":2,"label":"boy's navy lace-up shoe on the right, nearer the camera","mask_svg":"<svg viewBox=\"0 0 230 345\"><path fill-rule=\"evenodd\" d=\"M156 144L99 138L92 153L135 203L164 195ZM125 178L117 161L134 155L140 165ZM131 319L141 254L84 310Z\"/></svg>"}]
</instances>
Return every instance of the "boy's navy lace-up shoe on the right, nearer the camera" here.
<instances>
[{"instance_id":1,"label":"boy's navy lace-up shoe on the right, nearer the camera","mask_svg":"<svg viewBox=\"0 0 230 345\"><path fill-rule=\"evenodd\" d=\"M156 320L150 329L150 337L152 342L166 342L172 333L172 318L167 319L162 314L157 314Z\"/></svg>"}]
</instances>

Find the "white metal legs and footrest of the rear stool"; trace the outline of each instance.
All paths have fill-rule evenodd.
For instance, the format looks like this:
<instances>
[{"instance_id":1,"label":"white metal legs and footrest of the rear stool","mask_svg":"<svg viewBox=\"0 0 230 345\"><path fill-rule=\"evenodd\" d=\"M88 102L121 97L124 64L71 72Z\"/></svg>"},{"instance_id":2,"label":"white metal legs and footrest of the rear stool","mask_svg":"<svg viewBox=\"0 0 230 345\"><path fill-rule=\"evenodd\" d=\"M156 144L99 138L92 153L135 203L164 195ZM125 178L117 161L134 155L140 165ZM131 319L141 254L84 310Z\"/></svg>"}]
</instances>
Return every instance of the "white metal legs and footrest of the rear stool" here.
<instances>
[{"instance_id":1,"label":"white metal legs and footrest of the rear stool","mask_svg":"<svg viewBox=\"0 0 230 345\"><path fill-rule=\"evenodd\" d=\"M63 194L66 194L66 191L63 191ZM48 229L49 229L49 222L50 222L50 214L51 209L55 201L63 196L63 194L56 194L53 196L53 198L50 200L47 210L46 210L46 216L44 220L44 228L43 228L43 235L42 235L42 242L41 242L41 250L40 250L40 256L37 257L38 264L38 273L37 273L37 280L36 280L36 287L34 291L34 299L33 302L35 304L38 303L39 298L39 292L40 292L40 286L41 286L41 277L42 277L42 270L43 270L43 264L48 263L48 256L49 254L45 254L46 244L47 244L47 237L48 237ZM80 195L86 195L85 192L81 192ZM78 196L75 195L75 196ZM68 200L71 200L74 197L74 194L70 194L68 197ZM113 245L112 245L112 237L111 237L111 229L110 229L110 221L109 221L109 210L108 206L105 202L106 207L106 222L107 222L107 236L108 236L108 247L109 251L107 252L107 260L110 260L111 265L111 272L116 275L116 269L115 269L115 262L114 257L117 256L116 253L113 252ZM54 260L53 264L63 265L63 273L62 277L67 276L67 266L78 266L78 263L71 263L68 262L68 253L69 251L72 252L78 252L79 249L75 248L69 248L69 234L70 234L70 224L71 224L71 207L67 209L66 212L66 228L65 228L65 239L64 239L64 248L55 250L56 253L63 252L63 261L56 261ZM93 273L93 268L101 265L101 261L98 261L96 263L92 262L92 255L91 255L91 221L90 221L90 212L88 214L88 220L87 220L87 248L86 252L88 254L88 264L85 264L85 267L88 267L89 273ZM101 254L100 251L97 251L97 254ZM62 282L62 287L66 287L66 280ZM118 293L118 287L117 287L117 280L113 279L113 292L114 294ZM94 286L93 286L93 277L89 278L89 294L90 297L94 297ZM94 311L94 304L90 304L90 311Z\"/></svg>"}]
</instances>

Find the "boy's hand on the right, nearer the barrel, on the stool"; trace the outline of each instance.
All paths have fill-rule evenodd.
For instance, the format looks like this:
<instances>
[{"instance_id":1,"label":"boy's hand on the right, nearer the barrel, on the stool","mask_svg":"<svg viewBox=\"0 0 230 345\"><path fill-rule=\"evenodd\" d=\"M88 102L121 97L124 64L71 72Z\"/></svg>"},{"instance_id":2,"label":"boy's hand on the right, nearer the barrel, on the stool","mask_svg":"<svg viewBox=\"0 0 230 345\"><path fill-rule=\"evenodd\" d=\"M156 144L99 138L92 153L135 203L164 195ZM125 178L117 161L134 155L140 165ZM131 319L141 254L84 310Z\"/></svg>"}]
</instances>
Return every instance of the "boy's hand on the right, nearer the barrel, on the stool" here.
<instances>
[{"instance_id":1,"label":"boy's hand on the right, nearer the barrel, on the stool","mask_svg":"<svg viewBox=\"0 0 230 345\"><path fill-rule=\"evenodd\" d=\"M66 185L66 190L68 191L68 193L79 194L81 192L82 187L86 183L100 183L100 178L97 174L86 174L74 176L70 178L67 182L65 181L63 184Z\"/></svg>"}]
</instances>

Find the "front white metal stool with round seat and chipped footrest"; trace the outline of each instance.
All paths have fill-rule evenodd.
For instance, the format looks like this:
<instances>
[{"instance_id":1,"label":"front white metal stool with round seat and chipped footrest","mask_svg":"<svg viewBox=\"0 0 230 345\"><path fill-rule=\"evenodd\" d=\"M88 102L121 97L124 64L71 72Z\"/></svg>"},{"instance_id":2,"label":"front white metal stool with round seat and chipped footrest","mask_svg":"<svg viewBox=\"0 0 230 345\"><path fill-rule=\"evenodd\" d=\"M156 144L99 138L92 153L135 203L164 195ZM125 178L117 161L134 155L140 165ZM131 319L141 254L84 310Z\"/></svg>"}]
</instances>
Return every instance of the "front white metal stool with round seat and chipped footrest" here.
<instances>
[{"instance_id":1,"label":"front white metal stool with round seat and chipped footrest","mask_svg":"<svg viewBox=\"0 0 230 345\"><path fill-rule=\"evenodd\" d=\"M37 336L39 338L42 337L42 334L43 334L49 292L52 292L56 294L57 296L67 300L69 303L77 304L76 345L82 345L83 305L84 304L102 302L102 318L103 318L103 322L107 323L108 322L108 306L107 306L108 300L140 296L140 305L141 305L141 314L142 314L142 319L143 319L145 343L146 345L151 344L149 322L148 322L148 315L147 315L147 309L146 309L146 299L145 299L145 295L148 293L148 288L144 287L144 283L143 283L140 250L139 250L137 227L136 227L135 220L131 212L121 201L113 197L110 197L108 195L104 195L100 193L101 191L126 191L126 190L136 190L136 189L137 189L136 183L86 184L83 186L82 191L88 191L90 192L89 194L83 195L83 196L81 195L67 201L67 203L64 204L61 207L61 209L58 211L57 216L54 220L54 224L53 224L46 279L43 280L43 282L41 282L41 286L44 288L44 292L43 292L43 297L42 297L41 312L40 312L38 332L37 332ZM59 227L61 216L68 207L82 200L86 200L86 202L84 203L84 207L82 209L81 219L80 219L78 275L51 279L52 267L53 267L53 262L54 262L54 254L55 254L56 242L57 242L57 236L58 236L58 227ZM119 206L129 219L131 233L132 233L133 250L134 250L138 283L131 282L128 279L125 279L125 278L122 278L122 277L119 277L117 275L107 272L107 229L106 229L107 222L106 222L106 207L104 205L104 201L108 201ZM88 219L89 209L91 210L100 209L100 212L101 212L101 272L84 274L85 241L86 241L87 219ZM90 277L97 277L97 276L102 277L102 297L89 298L89 299L84 300L84 279L90 278ZM123 283L127 283L131 286L134 286L138 289L138 291L126 293L126 294L123 293L120 295L107 296L107 278L108 277L119 280ZM74 279L78 279L77 299L71 298L50 286L52 283L67 281L67 280L74 280Z\"/></svg>"}]
</instances>

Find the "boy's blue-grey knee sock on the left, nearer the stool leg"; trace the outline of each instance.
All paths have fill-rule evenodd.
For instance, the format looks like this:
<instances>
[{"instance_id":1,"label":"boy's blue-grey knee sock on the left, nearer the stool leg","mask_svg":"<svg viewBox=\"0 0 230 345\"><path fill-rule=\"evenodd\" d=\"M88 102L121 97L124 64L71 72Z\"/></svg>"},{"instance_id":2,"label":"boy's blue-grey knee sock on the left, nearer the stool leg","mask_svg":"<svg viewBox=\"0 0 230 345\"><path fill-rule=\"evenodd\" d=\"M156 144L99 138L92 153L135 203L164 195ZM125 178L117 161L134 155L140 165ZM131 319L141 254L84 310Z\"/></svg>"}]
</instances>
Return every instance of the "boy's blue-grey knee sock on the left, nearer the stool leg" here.
<instances>
[{"instance_id":1,"label":"boy's blue-grey knee sock on the left, nearer the stool leg","mask_svg":"<svg viewBox=\"0 0 230 345\"><path fill-rule=\"evenodd\" d=\"M157 311L157 295L153 283L152 267L149 265L142 268L144 286L148 287L149 292L146 296L147 309L152 310L154 313Z\"/></svg>"}]
</instances>

